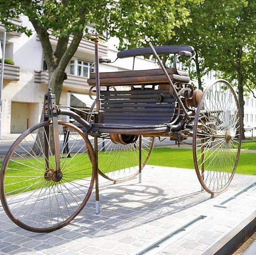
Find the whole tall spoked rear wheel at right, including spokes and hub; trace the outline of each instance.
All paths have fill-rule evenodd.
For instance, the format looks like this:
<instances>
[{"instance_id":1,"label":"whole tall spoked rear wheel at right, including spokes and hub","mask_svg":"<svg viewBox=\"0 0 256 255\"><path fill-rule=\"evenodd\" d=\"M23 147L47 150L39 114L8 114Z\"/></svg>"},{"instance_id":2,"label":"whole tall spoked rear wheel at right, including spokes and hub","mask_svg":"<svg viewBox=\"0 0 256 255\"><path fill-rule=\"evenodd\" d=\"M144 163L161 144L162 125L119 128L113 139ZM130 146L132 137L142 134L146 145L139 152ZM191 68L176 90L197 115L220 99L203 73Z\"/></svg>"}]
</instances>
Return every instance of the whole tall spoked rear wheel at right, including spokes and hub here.
<instances>
[{"instance_id":1,"label":"whole tall spoked rear wheel at right, including spokes and hub","mask_svg":"<svg viewBox=\"0 0 256 255\"><path fill-rule=\"evenodd\" d=\"M228 187L241 148L237 96L225 80L208 86L199 102L193 127L193 158L202 187L210 194Z\"/></svg>"}]
</instances>

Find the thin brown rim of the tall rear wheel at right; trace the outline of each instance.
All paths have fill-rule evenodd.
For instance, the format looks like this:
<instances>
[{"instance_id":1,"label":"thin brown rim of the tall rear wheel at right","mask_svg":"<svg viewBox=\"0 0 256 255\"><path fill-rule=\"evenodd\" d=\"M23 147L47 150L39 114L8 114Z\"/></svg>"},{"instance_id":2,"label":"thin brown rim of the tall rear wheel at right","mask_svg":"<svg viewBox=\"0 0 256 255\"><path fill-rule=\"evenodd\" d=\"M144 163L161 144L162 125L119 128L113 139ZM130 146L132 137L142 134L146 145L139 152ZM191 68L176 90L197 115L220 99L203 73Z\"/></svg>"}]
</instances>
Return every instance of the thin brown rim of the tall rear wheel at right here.
<instances>
[{"instance_id":1,"label":"thin brown rim of the tall rear wheel at right","mask_svg":"<svg viewBox=\"0 0 256 255\"><path fill-rule=\"evenodd\" d=\"M211 187L208 187L205 183L205 181L203 180L204 175L202 176L201 175L201 169L200 169L200 165L198 165L198 155L197 155L197 136L198 136L198 120L199 120L199 117L200 117L200 110L201 108L204 106L204 101L205 101L205 98L207 96L207 93L210 91L210 89L213 87L213 86L217 86L216 84L218 83L223 83L225 86L227 86L227 91L228 89L230 90L230 95L234 97L234 102L235 102L235 105L237 107L236 109L236 115L237 115L237 120L236 122L232 123L232 125L234 125L235 123L238 123L238 127L235 128L235 130L239 133L238 135L236 135L235 137L237 137L237 148L235 149L235 152L236 152L236 159L234 162L234 167L229 175L228 173L228 180L225 181L225 184L222 185L221 184L221 187L220 188L217 188L214 189L214 188L211 188ZM227 92L228 93L228 92ZM221 94L221 93L220 93ZM225 96L226 97L226 96ZM223 97L221 97L221 100L223 99ZM219 98L218 98L219 100ZM229 98L228 98L229 100ZM225 105L226 106L226 105ZM225 107L224 106L224 107ZM232 130L233 131L233 130ZM227 132L226 132L227 133ZM223 133L223 136L224 136L224 133ZM224 141L224 140L223 140ZM223 141L220 141L220 142L223 142ZM240 108L239 108L239 102L237 100L237 96L235 95L235 92L234 92L234 89L231 87L231 85L225 81L225 80L216 80L213 84L211 84L210 86L208 86L204 92L203 92L203 96L199 102L199 105L198 105L198 108L197 108L197 112L196 112L196 115L195 115L195 121L194 121L194 127L193 127L193 142L192 142L192 145L193 145L193 158L194 158L194 164L195 164L195 170L196 170L196 174L198 176L198 179L200 181L200 184L201 186L207 191L209 192L210 194L214 194L214 193L220 193L220 192L223 192L227 187L228 185L230 184L232 178L234 177L234 173L236 171L236 168L237 168L237 164L238 164L238 159L239 159L239 154L240 154L240 149L241 149L241 114L240 114ZM207 146L207 145L206 145ZM209 146L210 143L209 143ZM218 145L217 145L218 146ZM220 146L222 146L222 144L220 144ZM205 146L203 146L205 147ZM214 149L215 150L215 149ZM205 159L203 159L203 162L206 161ZM212 172L212 171L210 171ZM214 172L214 171L213 171ZM215 175L215 173L217 173L217 171L214 172L213 175ZM217 175L217 174L216 174ZM220 174L221 175L221 174ZM208 171L208 175L206 177L206 181L207 181L207 178L209 177L209 171ZM223 178L224 177L218 177L219 179L222 178L221 182L223 181ZM225 177L226 178L226 177ZM211 183L211 179L212 177L210 177L210 183ZM220 180L219 180L220 181ZM218 181L218 182L219 182ZM217 184L219 186L219 184Z\"/></svg>"}]
</instances>

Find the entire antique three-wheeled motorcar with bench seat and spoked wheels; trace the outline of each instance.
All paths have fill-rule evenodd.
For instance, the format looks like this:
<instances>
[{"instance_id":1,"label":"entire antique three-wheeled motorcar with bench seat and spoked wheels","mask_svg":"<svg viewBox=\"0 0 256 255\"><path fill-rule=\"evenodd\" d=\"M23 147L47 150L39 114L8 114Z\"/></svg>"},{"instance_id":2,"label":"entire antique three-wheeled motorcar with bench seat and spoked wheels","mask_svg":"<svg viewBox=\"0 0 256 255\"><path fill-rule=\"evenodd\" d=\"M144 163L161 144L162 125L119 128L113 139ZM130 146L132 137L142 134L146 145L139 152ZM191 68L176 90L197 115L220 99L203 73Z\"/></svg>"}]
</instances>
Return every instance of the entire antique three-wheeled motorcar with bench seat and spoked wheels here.
<instances>
[{"instance_id":1,"label":"entire antique three-wheeled motorcar with bench seat and spoked wheels","mask_svg":"<svg viewBox=\"0 0 256 255\"><path fill-rule=\"evenodd\" d=\"M117 58L154 55L160 68L99 73L100 36L88 36L95 42L95 72L88 80L95 104L84 119L72 107L56 105L48 90L44 121L14 141L2 164L1 202L10 219L34 232L64 227L86 206L94 186L99 213L99 175L114 183L136 177L141 182L160 137L178 144L192 138L201 187L211 195L225 190L241 144L239 103L231 85L215 80L203 92L195 89L189 73L177 67L178 58L195 55L191 46L123 50ZM174 55L173 67L164 67L162 54ZM61 120L66 116L76 124Z\"/></svg>"}]
</instances>

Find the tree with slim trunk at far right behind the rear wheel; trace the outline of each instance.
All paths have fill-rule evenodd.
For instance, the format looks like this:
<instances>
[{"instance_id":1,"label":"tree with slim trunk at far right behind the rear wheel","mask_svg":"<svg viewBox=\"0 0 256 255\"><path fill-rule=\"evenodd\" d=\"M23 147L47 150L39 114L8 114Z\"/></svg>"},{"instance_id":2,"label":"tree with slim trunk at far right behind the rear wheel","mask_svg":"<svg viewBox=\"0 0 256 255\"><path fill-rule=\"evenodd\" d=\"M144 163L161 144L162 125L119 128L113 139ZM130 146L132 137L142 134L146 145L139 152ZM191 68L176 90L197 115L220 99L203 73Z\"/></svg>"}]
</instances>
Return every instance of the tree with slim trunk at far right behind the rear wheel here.
<instances>
[{"instance_id":1,"label":"tree with slim trunk at far right behind the rear wheel","mask_svg":"<svg viewBox=\"0 0 256 255\"><path fill-rule=\"evenodd\" d=\"M210 20L214 28L211 61L215 70L237 86L244 139L244 95L248 89L255 92L256 88L256 2L208 0L207 4L212 8Z\"/></svg>"}]
</instances>

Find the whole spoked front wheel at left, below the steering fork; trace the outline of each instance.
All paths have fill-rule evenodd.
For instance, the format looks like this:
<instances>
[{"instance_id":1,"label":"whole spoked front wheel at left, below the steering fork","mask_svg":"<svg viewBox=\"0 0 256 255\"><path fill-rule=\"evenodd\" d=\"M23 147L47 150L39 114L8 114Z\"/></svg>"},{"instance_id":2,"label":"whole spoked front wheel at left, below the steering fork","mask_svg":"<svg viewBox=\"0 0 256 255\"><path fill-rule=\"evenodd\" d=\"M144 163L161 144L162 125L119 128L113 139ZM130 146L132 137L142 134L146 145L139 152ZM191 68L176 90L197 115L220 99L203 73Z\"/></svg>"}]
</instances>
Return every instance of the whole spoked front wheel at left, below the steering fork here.
<instances>
[{"instance_id":1,"label":"whole spoked front wheel at left, below the steering fork","mask_svg":"<svg viewBox=\"0 0 256 255\"><path fill-rule=\"evenodd\" d=\"M83 209L94 185L95 153L90 141L75 125L58 121L58 127L62 177L55 174L50 121L22 133L3 161L3 208L14 223L29 231L50 232L67 225Z\"/></svg>"}]
</instances>

